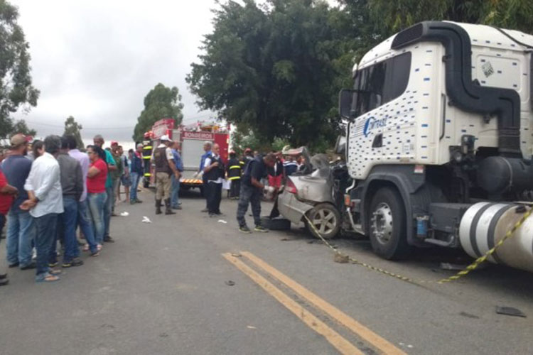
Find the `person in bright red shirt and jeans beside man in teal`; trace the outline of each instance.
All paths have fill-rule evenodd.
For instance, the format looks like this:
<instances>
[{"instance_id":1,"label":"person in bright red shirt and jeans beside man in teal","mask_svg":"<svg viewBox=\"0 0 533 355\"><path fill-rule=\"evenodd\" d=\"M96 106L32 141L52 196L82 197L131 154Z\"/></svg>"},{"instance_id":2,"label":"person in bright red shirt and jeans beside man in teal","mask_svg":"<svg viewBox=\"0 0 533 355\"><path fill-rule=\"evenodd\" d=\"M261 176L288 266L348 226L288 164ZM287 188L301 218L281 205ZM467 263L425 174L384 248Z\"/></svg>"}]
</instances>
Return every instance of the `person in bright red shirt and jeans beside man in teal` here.
<instances>
[{"instance_id":1,"label":"person in bright red shirt and jeans beside man in teal","mask_svg":"<svg viewBox=\"0 0 533 355\"><path fill-rule=\"evenodd\" d=\"M87 154L91 162L87 173L87 201L92 219L92 227L95 230L95 239L98 250L102 249L104 242L104 205L107 201L105 181L107 180L107 163L101 157L104 151L99 146L88 146Z\"/></svg>"}]
</instances>

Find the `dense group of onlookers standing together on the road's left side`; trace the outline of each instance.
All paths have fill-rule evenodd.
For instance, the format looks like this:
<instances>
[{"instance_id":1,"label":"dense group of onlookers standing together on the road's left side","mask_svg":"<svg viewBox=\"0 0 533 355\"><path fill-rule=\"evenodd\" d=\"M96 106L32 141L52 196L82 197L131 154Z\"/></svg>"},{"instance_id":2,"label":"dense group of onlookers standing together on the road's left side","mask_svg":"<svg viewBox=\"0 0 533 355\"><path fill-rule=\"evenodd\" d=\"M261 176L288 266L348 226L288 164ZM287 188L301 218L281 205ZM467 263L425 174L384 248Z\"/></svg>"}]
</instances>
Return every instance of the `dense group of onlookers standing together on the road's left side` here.
<instances>
[{"instance_id":1,"label":"dense group of onlookers standing together on the road's left side","mask_svg":"<svg viewBox=\"0 0 533 355\"><path fill-rule=\"evenodd\" d=\"M120 185L126 202L141 202L142 146L126 155L117 142L104 149L102 136L93 143L79 147L74 136L11 137L0 165L0 229L7 224L9 268L36 269L38 282L59 280L58 241L61 266L81 266L80 246L98 256L104 243L114 242L109 225ZM0 274L0 285L6 283Z\"/></svg>"}]
</instances>

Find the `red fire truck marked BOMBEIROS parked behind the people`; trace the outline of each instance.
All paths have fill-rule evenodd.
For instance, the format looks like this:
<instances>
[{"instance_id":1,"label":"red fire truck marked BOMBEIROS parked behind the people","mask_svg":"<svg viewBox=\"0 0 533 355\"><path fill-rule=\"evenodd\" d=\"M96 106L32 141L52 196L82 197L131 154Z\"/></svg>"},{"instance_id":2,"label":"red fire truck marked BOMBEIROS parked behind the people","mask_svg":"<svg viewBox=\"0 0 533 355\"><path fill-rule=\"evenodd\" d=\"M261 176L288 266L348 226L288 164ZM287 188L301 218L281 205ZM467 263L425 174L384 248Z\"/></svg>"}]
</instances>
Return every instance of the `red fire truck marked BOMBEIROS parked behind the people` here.
<instances>
[{"instance_id":1,"label":"red fire truck marked BOMBEIROS parked behind the people","mask_svg":"<svg viewBox=\"0 0 533 355\"><path fill-rule=\"evenodd\" d=\"M151 129L152 146L154 149L159 145L159 139L168 135L172 141L178 141L181 160L183 161L183 173L181 174L180 189L188 190L191 187L202 188L202 179L195 176L200 168L203 145L206 141L220 146L220 157L227 162L227 153L230 146L230 129L226 126L212 122L198 122L188 126L174 127L173 119L160 119ZM155 185L154 165L151 165L150 185Z\"/></svg>"}]
</instances>

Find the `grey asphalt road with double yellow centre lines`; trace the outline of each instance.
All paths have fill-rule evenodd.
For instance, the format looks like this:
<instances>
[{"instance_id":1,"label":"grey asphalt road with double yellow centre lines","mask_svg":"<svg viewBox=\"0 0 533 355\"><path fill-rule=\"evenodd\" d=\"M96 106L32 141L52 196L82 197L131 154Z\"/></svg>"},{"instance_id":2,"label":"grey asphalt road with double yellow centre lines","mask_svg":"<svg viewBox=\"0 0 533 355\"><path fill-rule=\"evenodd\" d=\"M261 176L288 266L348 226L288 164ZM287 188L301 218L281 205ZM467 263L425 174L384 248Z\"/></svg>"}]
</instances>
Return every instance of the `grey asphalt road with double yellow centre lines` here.
<instances>
[{"instance_id":1,"label":"grey asphalt road with double yellow centre lines","mask_svg":"<svg viewBox=\"0 0 533 355\"><path fill-rule=\"evenodd\" d=\"M226 215L209 218L194 193L174 216L154 215L151 192L141 198L117 207L129 212L112 219L117 242L97 258L83 256L85 265L65 269L57 283L9 270L0 288L1 355L533 353L529 273L489 266L456 283L415 285L335 263L300 226L241 234L235 201L223 200ZM466 262L437 249L394 263L362 239L333 244L416 280L451 275L441 261ZM498 315L496 306L527 317Z\"/></svg>"}]
</instances>

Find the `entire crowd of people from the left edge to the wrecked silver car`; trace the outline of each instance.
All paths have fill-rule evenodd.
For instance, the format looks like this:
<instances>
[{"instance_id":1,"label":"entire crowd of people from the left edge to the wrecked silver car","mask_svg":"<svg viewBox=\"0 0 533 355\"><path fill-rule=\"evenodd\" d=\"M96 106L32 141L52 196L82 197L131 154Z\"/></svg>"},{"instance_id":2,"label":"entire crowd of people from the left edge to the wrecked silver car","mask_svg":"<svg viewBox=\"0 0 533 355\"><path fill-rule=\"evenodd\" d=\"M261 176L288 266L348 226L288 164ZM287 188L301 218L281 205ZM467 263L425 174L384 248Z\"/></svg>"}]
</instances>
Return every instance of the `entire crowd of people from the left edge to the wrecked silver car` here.
<instances>
[{"instance_id":1,"label":"entire crowd of people from the left edge to the wrecked silver car","mask_svg":"<svg viewBox=\"0 0 533 355\"><path fill-rule=\"evenodd\" d=\"M156 214L161 213L163 196L166 214L181 209L178 192L183 163L176 142L162 138L151 160L144 160L142 143L127 153L115 141L103 147L100 135L86 147L78 146L74 136L48 136L44 141L31 141L23 134L11 137L9 150L0 157L0 230L7 224L9 268L36 269L36 281L51 282L59 280L61 273L56 268L58 255L62 255L63 268L83 265L80 249L98 256L104 243L114 242L109 225L114 206L121 200L121 185L124 202L141 203L137 192L146 163L154 166L157 176ZM286 176L301 167L301 158L262 155L247 148L241 158L230 151L224 163L217 144L205 142L204 150L198 170L207 202L203 212L222 214L222 185L227 183L229 197L239 200L241 231L249 231L244 222L249 203L254 230L265 231L259 222L262 193L277 191ZM7 283L7 275L0 273L0 285Z\"/></svg>"}]
</instances>

